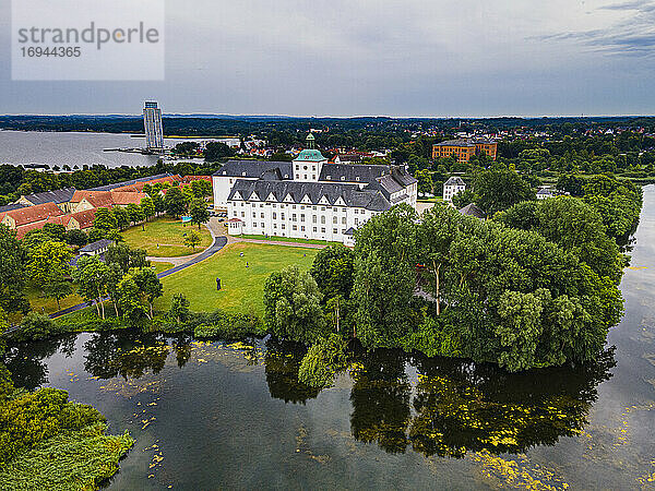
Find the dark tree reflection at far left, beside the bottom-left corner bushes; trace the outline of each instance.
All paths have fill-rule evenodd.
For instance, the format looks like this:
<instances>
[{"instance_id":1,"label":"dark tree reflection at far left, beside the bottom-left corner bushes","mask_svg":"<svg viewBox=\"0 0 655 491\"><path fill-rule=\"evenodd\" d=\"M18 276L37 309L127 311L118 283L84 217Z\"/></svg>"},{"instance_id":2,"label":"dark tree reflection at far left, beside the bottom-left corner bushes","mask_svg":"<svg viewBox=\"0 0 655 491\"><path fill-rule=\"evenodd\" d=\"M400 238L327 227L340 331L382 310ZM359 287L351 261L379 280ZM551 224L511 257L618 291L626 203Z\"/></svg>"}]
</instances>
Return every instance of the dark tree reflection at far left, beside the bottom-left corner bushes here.
<instances>
[{"instance_id":1,"label":"dark tree reflection at far left, beside the bottom-left corner bushes","mask_svg":"<svg viewBox=\"0 0 655 491\"><path fill-rule=\"evenodd\" d=\"M9 346L4 355L4 364L11 372L14 385L34 391L47 384L48 366L43 360L57 351L71 358L75 352L76 338L76 334L67 334L46 340Z\"/></svg>"}]
</instances>

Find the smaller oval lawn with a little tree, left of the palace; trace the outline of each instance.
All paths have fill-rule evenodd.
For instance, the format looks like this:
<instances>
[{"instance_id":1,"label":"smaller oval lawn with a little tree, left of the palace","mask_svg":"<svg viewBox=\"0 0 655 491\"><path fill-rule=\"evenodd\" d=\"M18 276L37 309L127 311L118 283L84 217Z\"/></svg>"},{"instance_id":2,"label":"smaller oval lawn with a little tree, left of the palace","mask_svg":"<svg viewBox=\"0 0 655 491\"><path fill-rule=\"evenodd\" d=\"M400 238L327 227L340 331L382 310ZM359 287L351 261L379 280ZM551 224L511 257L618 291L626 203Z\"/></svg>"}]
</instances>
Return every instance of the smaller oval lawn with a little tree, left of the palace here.
<instances>
[{"instance_id":1,"label":"smaller oval lawn with a little tree, left of the palace","mask_svg":"<svg viewBox=\"0 0 655 491\"><path fill-rule=\"evenodd\" d=\"M195 250L184 246L183 235L191 229L200 232L202 242ZM179 258L181 255L194 254L204 251L212 244L212 235L206 227L198 225L183 226L180 220L172 218L157 218L145 224L145 230L136 225L121 233L131 248L145 249L147 255L155 258ZM159 247L157 248L157 244Z\"/></svg>"}]
</instances>

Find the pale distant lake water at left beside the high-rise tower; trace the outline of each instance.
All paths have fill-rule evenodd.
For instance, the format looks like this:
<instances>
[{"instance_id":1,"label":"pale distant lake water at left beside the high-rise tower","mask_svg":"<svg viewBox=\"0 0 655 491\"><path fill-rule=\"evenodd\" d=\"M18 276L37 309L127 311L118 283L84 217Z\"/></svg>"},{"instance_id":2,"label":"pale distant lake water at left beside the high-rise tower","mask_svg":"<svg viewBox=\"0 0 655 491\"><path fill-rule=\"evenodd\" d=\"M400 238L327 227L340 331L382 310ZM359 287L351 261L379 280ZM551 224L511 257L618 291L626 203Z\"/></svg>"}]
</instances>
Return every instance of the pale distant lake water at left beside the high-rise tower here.
<instances>
[{"instance_id":1,"label":"pale distant lake water at left beside the high-rise tower","mask_svg":"<svg viewBox=\"0 0 655 491\"><path fill-rule=\"evenodd\" d=\"M166 139L166 146L189 140ZM131 137L122 133L57 133L39 131L0 131L0 164L47 164L71 168L84 165L152 166L155 155L124 152L103 152L105 148L140 148L144 137Z\"/></svg>"}]
</instances>

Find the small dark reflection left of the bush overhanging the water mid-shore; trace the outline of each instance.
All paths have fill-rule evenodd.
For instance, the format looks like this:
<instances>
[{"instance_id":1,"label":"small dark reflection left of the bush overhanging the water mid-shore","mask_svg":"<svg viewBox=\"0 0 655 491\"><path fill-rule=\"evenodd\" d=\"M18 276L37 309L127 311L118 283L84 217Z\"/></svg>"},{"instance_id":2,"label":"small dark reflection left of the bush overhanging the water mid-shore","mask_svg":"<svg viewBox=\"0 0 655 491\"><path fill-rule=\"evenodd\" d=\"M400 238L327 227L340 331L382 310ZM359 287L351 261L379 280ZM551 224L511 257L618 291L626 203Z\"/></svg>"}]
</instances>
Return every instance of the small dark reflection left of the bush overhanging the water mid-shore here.
<instances>
[{"instance_id":1,"label":"small dark reflection left of the bush overhanging the water mid-shore","mask_svg":"<svg viewBox=\"0 0 655 491\"><path fill-rule=\"evenodd\" d=\"M285 403L305 404L321 392L298 381L298 369L307 349L295 343L269 339L264 356L266 383L271 397Z\"/></svg>"}]
</instances>

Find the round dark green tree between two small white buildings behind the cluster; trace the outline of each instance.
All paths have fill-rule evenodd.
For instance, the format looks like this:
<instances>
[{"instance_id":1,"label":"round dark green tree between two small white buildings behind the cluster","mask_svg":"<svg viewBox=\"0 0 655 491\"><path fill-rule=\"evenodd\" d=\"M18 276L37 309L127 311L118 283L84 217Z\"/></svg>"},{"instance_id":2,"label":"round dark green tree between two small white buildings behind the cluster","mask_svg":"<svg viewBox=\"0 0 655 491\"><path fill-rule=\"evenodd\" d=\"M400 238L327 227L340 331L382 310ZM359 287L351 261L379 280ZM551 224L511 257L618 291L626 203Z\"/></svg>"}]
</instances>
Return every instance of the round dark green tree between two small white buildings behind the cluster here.
<instances>
[{"instance_id":1,"label":"round dark green tree between two small white buildings behind the cluster","mask_svg":"<svg viewBox=\"0 0 655 491\"><path fill-rule=\"evenodd\" d=\"M536 200L536 194L529 184L516 172L508 169L478 172L474 191L479 196L476 204L489 216L522 201Z\"/></svg>"}]
</instances>

